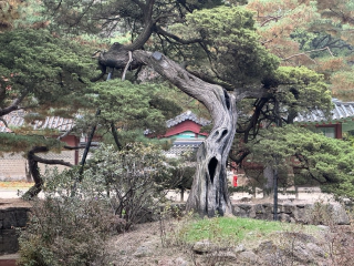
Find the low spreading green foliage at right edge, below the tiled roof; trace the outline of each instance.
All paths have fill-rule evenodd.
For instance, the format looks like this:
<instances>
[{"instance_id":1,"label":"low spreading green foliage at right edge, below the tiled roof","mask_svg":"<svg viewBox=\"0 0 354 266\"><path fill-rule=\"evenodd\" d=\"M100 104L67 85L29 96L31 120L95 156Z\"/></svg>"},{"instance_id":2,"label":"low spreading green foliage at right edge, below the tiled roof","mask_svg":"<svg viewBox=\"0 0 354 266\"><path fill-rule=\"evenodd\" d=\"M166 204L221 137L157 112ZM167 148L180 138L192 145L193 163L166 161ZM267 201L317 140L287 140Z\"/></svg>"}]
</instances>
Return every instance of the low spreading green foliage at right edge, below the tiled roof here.
<instances>
[{"instance_id":1,"label":"low spreading green foliage at right edge, below the tiled roof","mask_svg":"<svg viewBox=\"0 0 354 266\"><path fill-rule=\"evenodd\" d=\"M291 166L295 180L312 180L323 192L333 193L337 198L353 198L354 150L346 142L293 125L272 127L260 134L264 135L250 146L252 162L268 162L283 172L284 180Z\"/></svg>"}]
</instances>

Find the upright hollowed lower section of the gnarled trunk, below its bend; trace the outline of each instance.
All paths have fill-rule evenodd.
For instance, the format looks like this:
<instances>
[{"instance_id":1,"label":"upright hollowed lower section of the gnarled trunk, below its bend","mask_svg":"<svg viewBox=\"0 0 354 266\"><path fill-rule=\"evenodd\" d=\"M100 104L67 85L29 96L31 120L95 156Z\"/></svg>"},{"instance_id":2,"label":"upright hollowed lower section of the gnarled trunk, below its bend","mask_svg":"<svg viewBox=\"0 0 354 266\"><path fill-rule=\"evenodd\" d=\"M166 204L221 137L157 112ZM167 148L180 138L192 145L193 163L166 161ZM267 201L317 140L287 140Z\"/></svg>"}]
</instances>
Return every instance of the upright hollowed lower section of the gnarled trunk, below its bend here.
<instances>
[{"instance_id":1,"label":"upright hollowed lower section of the gnarled trunk, below its bend","mask_svg":"<svg viewBox=\"0 0 354 266\"><path fill-rule=\"evenodd\" d=\"M195 209L200 215L231 214L226 165L236 131L235 103L233 99L229 109L222 101L215 104L212 131L197 153L198 164L187 209Z\"/></svg>"}]
</instances>

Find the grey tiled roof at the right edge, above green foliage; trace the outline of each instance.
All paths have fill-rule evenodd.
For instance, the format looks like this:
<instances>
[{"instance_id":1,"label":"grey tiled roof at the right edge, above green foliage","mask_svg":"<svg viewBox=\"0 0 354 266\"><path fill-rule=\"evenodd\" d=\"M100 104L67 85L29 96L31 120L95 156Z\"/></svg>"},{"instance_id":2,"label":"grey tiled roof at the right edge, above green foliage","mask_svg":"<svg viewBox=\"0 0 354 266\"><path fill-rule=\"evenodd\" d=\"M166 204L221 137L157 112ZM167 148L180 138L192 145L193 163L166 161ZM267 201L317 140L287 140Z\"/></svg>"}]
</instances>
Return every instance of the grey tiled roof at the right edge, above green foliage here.
<instances>
[{"instance_id":1,"label":"grey tiled roof at the right edge, above green foliage","mask_svg":"<svg viewBox=\"0 0 354 266\"><path fill-rule=\"evenodd\" d=\"M331 111L332 116L327 120L324 113L320 110L312 111L306 115L299 114L295 123L314 123L327 121L341 121L345 119L354 119L354 102L341 102L337 99L332 100L334 109Z\"/></svg>"}]
</instances>

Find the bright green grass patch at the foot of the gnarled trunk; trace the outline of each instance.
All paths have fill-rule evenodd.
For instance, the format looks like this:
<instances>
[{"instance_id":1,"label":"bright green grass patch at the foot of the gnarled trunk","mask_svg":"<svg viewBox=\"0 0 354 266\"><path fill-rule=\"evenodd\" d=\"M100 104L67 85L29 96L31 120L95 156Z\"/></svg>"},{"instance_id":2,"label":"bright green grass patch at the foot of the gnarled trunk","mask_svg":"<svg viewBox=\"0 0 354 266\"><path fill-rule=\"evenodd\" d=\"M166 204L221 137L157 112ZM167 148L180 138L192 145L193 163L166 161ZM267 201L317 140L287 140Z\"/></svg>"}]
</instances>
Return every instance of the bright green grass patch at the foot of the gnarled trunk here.
<instances>
[{"instance_id":1,"label":"bright green grass patch at the foot of the gnarled trunk","mask_svg":"<svg viewBox=\"0 0 354 266\"><path fill-rule=\"evenodd\" d=\"M186 231L187 242L228 239L235 243L267 238L275 232L315 231L315 226L269 222L240 217L216 217L191 222Z\"/></svg>"}]
</instances>

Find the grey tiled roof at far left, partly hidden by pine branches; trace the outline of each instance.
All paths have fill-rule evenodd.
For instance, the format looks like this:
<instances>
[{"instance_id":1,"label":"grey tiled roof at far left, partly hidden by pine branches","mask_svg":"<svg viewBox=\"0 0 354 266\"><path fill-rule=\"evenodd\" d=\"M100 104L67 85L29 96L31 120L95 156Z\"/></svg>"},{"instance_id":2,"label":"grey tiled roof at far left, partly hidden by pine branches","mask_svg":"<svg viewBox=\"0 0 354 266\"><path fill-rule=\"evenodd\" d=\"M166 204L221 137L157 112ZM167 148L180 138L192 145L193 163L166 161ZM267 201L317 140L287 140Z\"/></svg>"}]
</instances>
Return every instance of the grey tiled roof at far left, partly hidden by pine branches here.
<instances>
[{"instance_id":1,"label":"grey tiled roof at far left, partly hidden by pine branches","mask_svg":"<svg viewBox=\"0 0 354 266\"><path fill-rule=\"evenodd\" d=\"M1 116L8 123L8 126L22 126L24 125L24 113L23 112L12 112L10 114ZM58 130L60 132L65 132L71 130L74 125L72 119L63 119L60 116L46 116L45 120L35 120L31 123L34 130ZM11 132L11 130L6 126L6 124L0 120L0 132Z\"/></svg>"}]
</instances>

